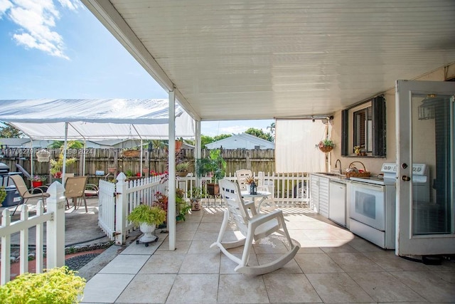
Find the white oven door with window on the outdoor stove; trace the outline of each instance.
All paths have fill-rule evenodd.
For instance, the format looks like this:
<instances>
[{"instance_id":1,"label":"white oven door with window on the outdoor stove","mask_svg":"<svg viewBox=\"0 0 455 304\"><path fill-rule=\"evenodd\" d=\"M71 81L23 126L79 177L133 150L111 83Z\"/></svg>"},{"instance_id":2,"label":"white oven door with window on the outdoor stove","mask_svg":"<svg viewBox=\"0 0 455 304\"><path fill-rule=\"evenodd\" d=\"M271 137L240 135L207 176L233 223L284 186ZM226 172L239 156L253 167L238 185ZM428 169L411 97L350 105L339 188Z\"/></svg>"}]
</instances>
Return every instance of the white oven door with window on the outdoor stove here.
<instances>
[{"instance_id":1,"label":"white oven door with window on the outdoor stove","mask_svg":"<svg viewBox=\"0 0 455 304\"><path fill-rule=\"evenodd\" d=\"M385 231L384 186L351 183L350 218Z\"/></svg>"}]
</instances>

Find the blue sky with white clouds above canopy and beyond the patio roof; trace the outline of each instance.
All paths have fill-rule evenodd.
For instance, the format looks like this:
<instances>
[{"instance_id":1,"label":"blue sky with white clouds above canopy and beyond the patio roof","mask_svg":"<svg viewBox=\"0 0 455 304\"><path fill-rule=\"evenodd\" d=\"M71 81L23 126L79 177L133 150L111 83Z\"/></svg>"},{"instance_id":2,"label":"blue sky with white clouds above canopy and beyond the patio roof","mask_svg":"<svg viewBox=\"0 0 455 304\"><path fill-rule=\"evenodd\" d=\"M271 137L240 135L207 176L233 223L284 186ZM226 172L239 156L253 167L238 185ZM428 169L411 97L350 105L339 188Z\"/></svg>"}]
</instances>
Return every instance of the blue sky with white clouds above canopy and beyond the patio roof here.
<instances>
[{"instance_id":1,"label":"blue sky with white clouds above canopy and beyond the patio roof","mask_svg":"<svg viewBox=\"0 0 455 304\"><path fill-rule=\"evenodd\" d=\"M168 98L79 0L0 0L0 100ZM202 134L274 120L202 122Z\"/></svg>"}]
</instances>

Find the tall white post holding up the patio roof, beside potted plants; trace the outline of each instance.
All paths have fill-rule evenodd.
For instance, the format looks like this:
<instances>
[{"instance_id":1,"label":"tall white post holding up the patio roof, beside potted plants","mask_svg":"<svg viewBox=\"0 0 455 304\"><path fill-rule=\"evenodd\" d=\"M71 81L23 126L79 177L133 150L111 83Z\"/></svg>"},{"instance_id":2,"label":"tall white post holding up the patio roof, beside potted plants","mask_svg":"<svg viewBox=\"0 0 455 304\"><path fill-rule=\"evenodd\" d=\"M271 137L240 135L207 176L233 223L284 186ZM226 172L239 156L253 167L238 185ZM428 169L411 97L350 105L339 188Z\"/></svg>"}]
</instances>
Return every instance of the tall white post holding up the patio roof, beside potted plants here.
<instances>
[{"instance_id":1,"label":"tall white post holding up the patio roof, beside potted plants","mask_svg":"<svg viewBox=\"0 0 455 304\"><path fill-rule=\"evenodd\" d=\"M168 231L169 250L176 250L176 95L169 92Z\"/></svg>"}]
</instances>

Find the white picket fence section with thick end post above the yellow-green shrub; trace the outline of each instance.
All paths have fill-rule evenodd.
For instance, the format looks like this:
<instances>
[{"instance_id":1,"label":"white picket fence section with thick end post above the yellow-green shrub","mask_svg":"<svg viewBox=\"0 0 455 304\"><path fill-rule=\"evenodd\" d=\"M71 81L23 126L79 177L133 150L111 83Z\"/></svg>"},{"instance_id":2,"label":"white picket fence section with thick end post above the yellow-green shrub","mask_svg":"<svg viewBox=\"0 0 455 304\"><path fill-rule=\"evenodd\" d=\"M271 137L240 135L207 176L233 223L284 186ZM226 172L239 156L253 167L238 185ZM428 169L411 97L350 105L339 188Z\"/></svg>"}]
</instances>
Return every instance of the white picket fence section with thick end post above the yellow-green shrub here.
<instances>
[{"instance_id":1,"label":"white picket fence section with thick end post above the yellow-green shrub","mask_svg":"<svg viewBox=\"0 0 455 304\"><path fill-rule=\"evenodd\" d=\"M50 197L43 202L38 201L36 216L28 216L28 206L21 206L21 219L11 222L11 212L4 209L1 214L1 285L11 278L11 235L20 233L20 273L28 272L28 229L36 227L36 273L43 272L44 247L46 268L65 265L65 189L59 182L50 185ZM44 224L46 224L46 242L44 246Z\"/></svg>"}]
</instances>

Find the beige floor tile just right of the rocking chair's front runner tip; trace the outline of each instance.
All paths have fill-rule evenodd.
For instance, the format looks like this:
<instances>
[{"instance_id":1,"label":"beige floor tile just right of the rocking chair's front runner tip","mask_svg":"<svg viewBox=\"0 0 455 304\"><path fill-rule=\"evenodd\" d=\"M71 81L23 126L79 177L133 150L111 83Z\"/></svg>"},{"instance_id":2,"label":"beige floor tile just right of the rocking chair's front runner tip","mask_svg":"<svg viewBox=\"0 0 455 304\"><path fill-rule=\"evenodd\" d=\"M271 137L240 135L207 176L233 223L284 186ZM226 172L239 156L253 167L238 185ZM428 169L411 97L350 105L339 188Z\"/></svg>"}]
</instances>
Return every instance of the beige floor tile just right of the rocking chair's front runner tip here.
<instances>
[{"instance_id":1,"label":"beige floor tile just right of the rocking chair's front runner tip","mask_svg":"<svg viewBox=\"0 0 455 304\"><path fill-rule=\"evenodd\" d=\"M296 254L294 260L304 273L344 272L326 253Z\"/></svg>"}]
</instances>

